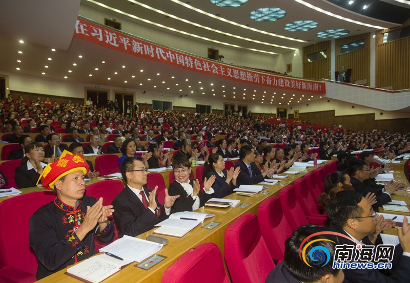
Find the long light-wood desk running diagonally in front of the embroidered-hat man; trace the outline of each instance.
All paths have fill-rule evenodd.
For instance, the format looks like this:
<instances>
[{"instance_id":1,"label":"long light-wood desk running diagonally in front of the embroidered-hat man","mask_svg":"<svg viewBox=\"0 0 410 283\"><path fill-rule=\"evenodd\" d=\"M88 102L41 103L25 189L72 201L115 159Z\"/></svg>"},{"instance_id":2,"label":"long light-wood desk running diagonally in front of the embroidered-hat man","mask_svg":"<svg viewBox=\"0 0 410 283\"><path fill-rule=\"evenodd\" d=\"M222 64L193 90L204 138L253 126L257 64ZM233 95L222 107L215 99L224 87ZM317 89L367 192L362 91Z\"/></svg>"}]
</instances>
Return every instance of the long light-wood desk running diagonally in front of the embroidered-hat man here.
<instances>
[{"instance_id":1,"label":"long light-wood desk running diagonally in front of the embroidered-hat man","mask_svg":"<svg viewBox=\"0 0 410 283\"><path fill-rule=\"evenodd\" d=\"M321 165L317 166L320 167ZM309 167L307 169L308 172L313 171L315 168ZM200 226L196 227L195 229L191 230L188 234L183 236L182 238L175 238L175 237L167 237L169 240L169 244L164 246L158 254L167 256L167 259L158 264L157 266L151 268L150 270L143 270L138 267L134 267L134 264L127 266L124 270L117 272L116 274L112 275L104 282L160 282L162 278L162 274L165 270L175 262L182 254L187 252L192 247L195 247L202 243L213 242L220 248L223 256L223 238L225 234L225 230L227 227L235 220L237 217L244 213L257 213L257 209L259 204L266 198L272 197L272 195L277 195L280 189L286 185L292 184L297 178L300 178L305 173L300 173L299 175L290 175L290 177L285 180L281 181L281 185L279 183L275 185L268 186L267 191L270 191L270 194L257 194L252 197L244 197L241 195L237 195L235 193L229 195L228 199L236 199L240 200L241 203L250 204L247 208L239 208L239 207L229 207L227 209L219 209L219 208L205 208L201 207L197 209L197 212L201 213L212 213L215 214L214 217L207 219L203 224L207 224L210 221L220 222L221 224L218 225L213 230L203 229ZM138 238L145 239L148 235L153 234L154 229L138 235ZM77 279L69 277L64 274L66 269L56 272L46 278L43 278L39 282L78 282Z\"/></svg>"}]
</instances>

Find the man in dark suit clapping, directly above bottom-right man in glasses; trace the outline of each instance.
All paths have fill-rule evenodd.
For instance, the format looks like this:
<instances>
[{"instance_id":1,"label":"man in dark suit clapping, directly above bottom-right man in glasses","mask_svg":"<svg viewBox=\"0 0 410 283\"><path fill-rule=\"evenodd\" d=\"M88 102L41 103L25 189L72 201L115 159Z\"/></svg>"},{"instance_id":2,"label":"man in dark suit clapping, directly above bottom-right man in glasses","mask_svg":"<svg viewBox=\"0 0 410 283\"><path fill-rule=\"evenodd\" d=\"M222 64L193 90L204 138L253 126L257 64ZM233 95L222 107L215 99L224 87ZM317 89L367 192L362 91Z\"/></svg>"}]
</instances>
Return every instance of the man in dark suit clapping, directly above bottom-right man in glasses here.
<instances>
[{"instance_id":1,"label":"man in dark suit clapping, directly above bottom-right man in glasses","mask_svg":"<svg viewBox=\"0 0 410 283\"><path fill-rule=\"evenodd\" d=\"M352 159L348 163L347 173L350 176L352 186L357 192L361 193L363 197L365 197L367 193L373 192L376 195L376 206L382 206L391 202L391 194L401 188L401 183L390 181L384 186L383 190L368 187L363 181L369 178L369 172L370 166L368 166L363 160Z\"/></svg>"}]
</instances>

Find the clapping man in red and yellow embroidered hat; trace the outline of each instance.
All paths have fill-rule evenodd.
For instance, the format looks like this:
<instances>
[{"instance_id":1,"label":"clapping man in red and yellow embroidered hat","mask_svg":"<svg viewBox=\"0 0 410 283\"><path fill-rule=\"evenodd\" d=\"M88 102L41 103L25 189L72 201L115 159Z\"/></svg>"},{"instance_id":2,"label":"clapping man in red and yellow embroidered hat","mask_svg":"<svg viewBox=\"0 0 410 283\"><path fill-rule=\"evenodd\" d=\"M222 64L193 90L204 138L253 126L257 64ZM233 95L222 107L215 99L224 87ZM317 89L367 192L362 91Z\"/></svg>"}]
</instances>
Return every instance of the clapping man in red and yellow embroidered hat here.
<instances>
[{"instance_id":1,"label":"clapping man in red and yellow embroidered hat","mask_svg":"<svg viewBox=\"0 0 410 283\"><path fill-rule=\"evenodd\" d=\"M84 195L88 170L82 156L64 150L40 176L44 188L54 189L57 197L30 218L29 243L39 261L37 279L95 254L94 234L101 242L112 240L108 216L114 209L103 206L103 198L97 201Z\"/></svg>"}]
</instances>

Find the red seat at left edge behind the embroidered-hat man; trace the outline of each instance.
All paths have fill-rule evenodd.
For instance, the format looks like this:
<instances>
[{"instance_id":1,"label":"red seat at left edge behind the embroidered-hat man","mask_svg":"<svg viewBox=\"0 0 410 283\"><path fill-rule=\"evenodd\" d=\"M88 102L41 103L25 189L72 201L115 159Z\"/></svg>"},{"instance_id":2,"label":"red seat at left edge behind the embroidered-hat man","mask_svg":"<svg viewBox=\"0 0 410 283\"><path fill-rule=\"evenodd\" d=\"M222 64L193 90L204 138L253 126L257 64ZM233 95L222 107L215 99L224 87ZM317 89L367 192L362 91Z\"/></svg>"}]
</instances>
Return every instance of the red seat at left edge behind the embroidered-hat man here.
<instances>
[{"instance_id":1,"label":"red seat at left edge behind the embroidered-hat man","mask_svg":"<svg viewBox=\"0 0 410 283\"><path fill-rule=\"evenodd\" d=\"M38 264L29 246L29 221L38 208L54 199L54 191L38 191L0 202L0 281L36 281Z\"/></svg>"}]
</instances>

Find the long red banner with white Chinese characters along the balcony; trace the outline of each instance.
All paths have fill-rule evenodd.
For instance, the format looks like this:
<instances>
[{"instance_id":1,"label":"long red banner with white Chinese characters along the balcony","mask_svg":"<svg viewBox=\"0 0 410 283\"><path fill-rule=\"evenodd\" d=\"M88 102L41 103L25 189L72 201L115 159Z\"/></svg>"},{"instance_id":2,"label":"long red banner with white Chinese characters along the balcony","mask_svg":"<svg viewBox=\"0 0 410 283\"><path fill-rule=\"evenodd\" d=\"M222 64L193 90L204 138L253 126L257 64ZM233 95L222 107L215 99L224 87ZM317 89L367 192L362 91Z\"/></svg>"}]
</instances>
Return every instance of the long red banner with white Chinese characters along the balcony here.
<instances>
[{"instance_id":1,"label":"long red banner with white Chinese characters along the balcony","mask_svg":"<svg viewBox=\"0 0 410 283\"><path fill-rule=\"evenodd\" d=\"M125 52L132 56L171 64L175 67L193 72L278 89L309 93L326 93L325 84L323 82L268 75L227 66L215 61L161 47L124 33L107 29L83 18L77 18L74 36L91 41L100 46Z\"/></svg>"}]
</instances>

